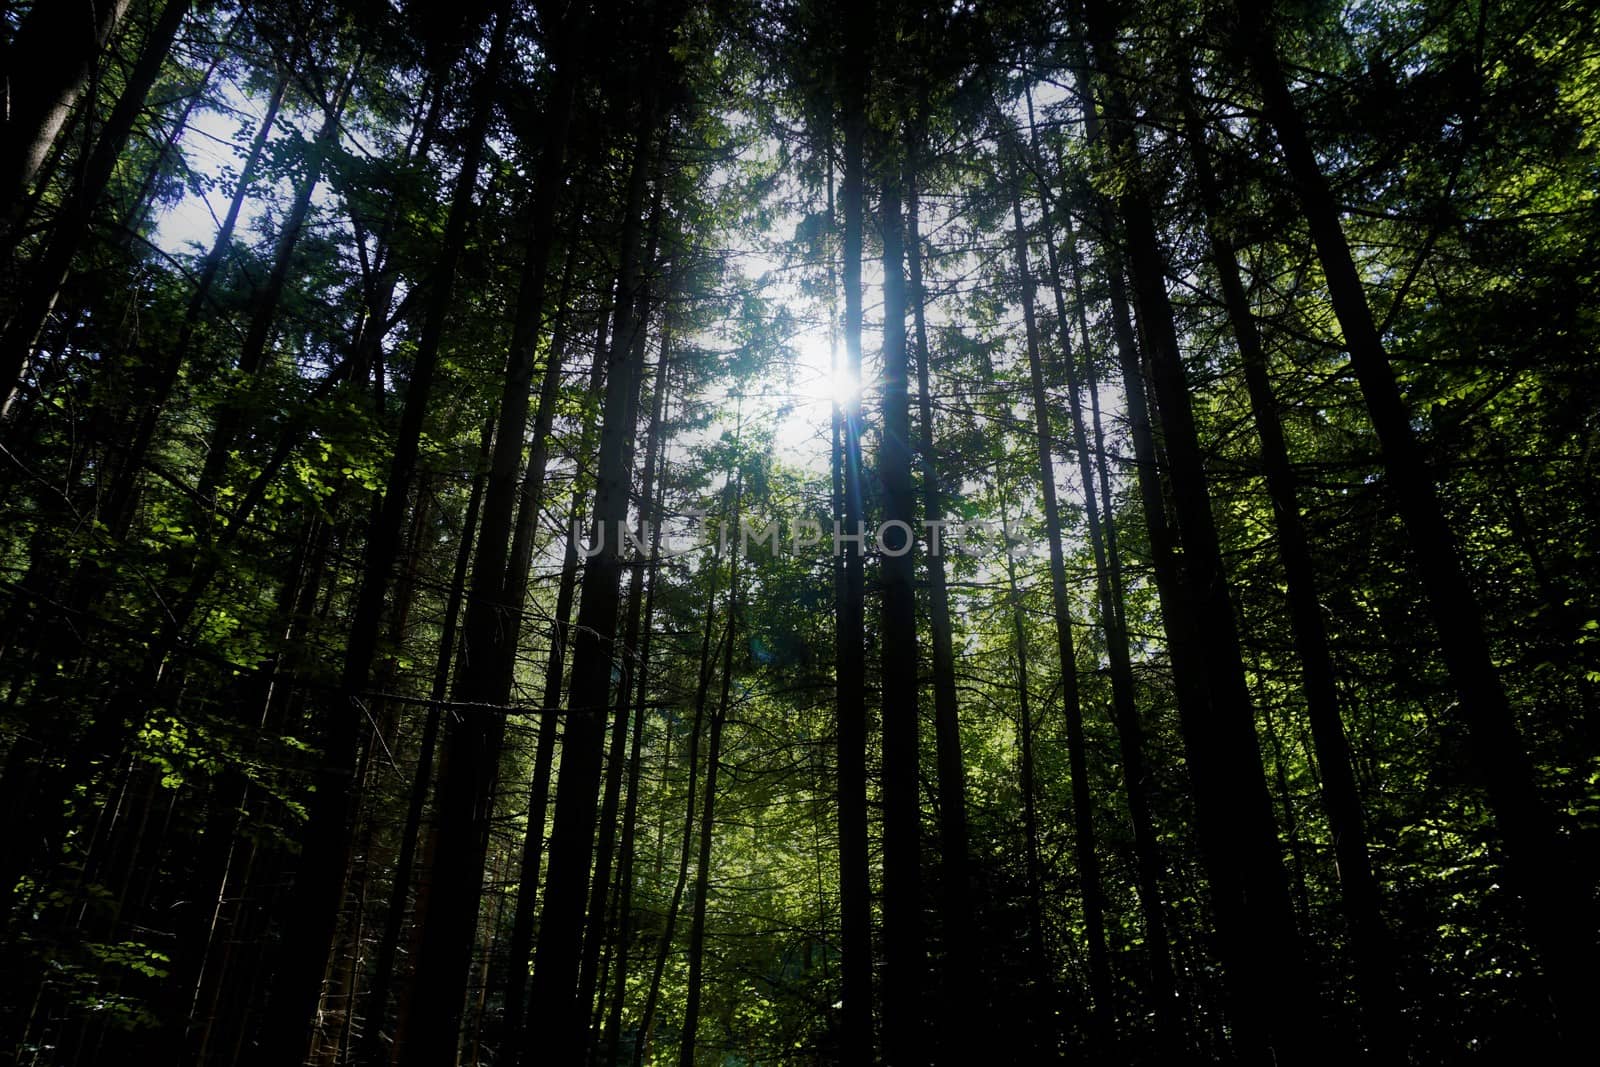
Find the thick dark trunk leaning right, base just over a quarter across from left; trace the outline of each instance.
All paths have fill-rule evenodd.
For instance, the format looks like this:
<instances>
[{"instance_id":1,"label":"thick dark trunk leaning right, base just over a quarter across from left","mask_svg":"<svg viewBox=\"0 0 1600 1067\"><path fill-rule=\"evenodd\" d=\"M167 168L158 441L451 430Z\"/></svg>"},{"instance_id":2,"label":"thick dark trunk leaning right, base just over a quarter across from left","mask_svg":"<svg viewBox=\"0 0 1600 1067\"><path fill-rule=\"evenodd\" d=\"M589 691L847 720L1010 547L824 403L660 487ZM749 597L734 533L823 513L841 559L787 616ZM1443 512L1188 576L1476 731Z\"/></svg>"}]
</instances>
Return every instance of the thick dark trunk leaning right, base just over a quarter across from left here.
<instances>
[{"instance_id":1,"label":"thick dark trunk leaning right, base just over a quarter across from left","mask_svg":"<svg viewBox=\"0 0 1600 1067\"><path fill-rule=\"evenodd\" d=\"M522 605L507 600L509 547L514 514L522 498L523 434L531 400L534 357L544 318L546 278L555 242L555 208L562 195L568 130L586 56L579 42L587 37L586 10L571 10L547 29L547 46L555 58L549 106L544 115L544 142L534 173L528 208L528 250L517 293L517 320L512 326L506 381L499 400L494 456L483 498L483 523L472 566L472 587L462 627L461 665L453 697L464 712L445 729L440 755L437 816L438 853L429 894L427 923L418 945L418 1003L429 1005L438 1017L416 1027L400 1049L406 1067L435 1067L456 1056L466 998L467 969L472 961L483 862L488 853L490 816L499 771L501 742L506 734L506 686L515 656L512 621ZM520 592L520 587L518 587Z\"/></svg>"}]
</instances>

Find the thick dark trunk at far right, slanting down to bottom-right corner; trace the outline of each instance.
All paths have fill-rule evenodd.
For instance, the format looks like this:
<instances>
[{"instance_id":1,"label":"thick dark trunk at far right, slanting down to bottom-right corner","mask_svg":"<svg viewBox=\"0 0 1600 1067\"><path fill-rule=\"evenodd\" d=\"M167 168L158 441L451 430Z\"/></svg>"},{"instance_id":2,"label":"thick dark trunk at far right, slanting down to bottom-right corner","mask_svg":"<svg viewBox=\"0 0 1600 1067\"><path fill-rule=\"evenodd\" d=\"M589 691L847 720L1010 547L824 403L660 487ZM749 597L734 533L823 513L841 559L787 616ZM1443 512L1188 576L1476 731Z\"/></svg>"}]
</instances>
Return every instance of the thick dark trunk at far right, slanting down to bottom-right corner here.
<instances>
[{"instance_id":1,"label":"thick dark trunk at far right, slanting down to bottom-right corner","mask_svg":"<svg viewBox=\"0 0 1600 1067\"><path fill-rule=\"evenodd\" d=\"M1494 824L1506 845L1507 881L1525 902L1523 915L1544 969L1558 1040L1571 1054L1581 1056L1578 1049L1594 1030L1594 1003L1600 997L1590 961L1594 907L1582 880L1571 877L1570 859L1563 856L1554 821L1534 784L1528 749L1483 630L1483 611L1467 581L1434 472L1416 440L1411 414L1366 302L1339 222L1339 203L1290 94L1274 40L1275 19L1256 0L1240 0L1237 13L1238 43L1261 90L1262 112L1277 133L1290 184L1317 246L1350 368L1382 450L1389 498L1405 522L1440 651L1461 693L1459 707L1469 728L1472 758L1483 774Z\"/></svg>"}]
</instances>

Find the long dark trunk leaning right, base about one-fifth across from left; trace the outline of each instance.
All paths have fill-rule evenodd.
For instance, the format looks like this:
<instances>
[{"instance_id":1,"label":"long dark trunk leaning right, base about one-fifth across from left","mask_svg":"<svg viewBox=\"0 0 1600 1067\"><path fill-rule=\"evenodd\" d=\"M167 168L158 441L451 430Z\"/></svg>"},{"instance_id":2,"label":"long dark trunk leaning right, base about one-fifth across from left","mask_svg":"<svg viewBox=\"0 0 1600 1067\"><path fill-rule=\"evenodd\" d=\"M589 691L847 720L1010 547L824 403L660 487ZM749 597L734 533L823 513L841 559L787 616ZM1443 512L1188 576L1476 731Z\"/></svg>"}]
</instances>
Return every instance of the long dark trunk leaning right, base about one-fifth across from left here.
<instances>
[{"instance_id":1,"label":"long dark trunk leaning right, base about one-fifth across from left","mask_svg":"<svg viewBox=\"0 0 1600 1067\"><path fill-rule=\"evenodd\" d=\"M454 296L456 269L466 250L467 224L472 218L478 168L483 158L483 134L488 130L491 114L490 88L509 34L507 14L509 11L502 10L496 19L485 70L478 75L474 88L472 118L466 131L467 157L462 160L451 192L437 274L427 282L430 286L427 312L418 338L411 378L406 384L400 426L395 432L395 451L389 461L384 498L374 509L366 531L362 584L344 651L339 697L326 717L323 765L317 774L317 790L310 801L299 873L290 897L291 920L285 937L285 952L274 984L274 1014L267 1035L274 1043L282 1041L272 1051L274 1056L280 1057L280 1062L291 1062L288 1057L304 1056L307 1027L317 1013L322 973L344 904L350 835L362 785L358 777L350 777L350 766L358 747L362 723L366 718L365 691L371 680L384 606L389 598L389 579L405 528L405 512L430 406L445 322ZM330 114L325 131L331 128L336 128L336 112ZM309 181L310 178L307 178ZM283 258L286 259L286 253Z\"/></svg>"}]
</instances>

